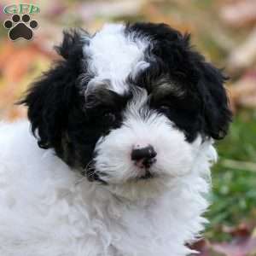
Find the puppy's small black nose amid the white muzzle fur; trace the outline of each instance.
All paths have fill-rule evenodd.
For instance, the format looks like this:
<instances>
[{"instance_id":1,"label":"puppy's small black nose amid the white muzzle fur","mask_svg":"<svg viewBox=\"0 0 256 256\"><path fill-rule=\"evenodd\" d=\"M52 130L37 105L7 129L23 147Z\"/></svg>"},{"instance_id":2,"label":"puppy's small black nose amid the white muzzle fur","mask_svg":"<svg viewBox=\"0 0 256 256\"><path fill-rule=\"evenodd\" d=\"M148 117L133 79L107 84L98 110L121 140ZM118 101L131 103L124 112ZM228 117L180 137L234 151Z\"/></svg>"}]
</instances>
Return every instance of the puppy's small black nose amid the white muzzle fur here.
<instances>
[{"instance_id":1,"label":"puppy's small black nose amid the white muzzle fur","mask_svg":"<svg viewBox=\"0 0 256 256\"><path fill-rule=\"evenodd\" d=\"M143 166L150 166L154 161L156 152L151 145L145 148L133 148L131 151L131 160L140 161L143 160Z\"/></svg>"}]
</instances>

